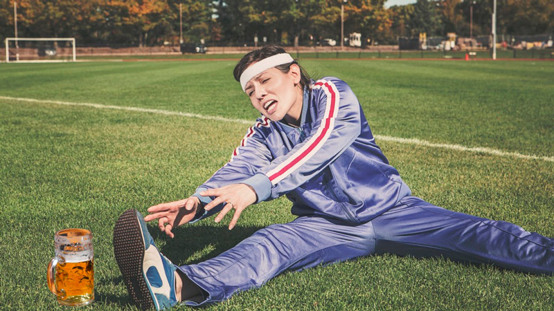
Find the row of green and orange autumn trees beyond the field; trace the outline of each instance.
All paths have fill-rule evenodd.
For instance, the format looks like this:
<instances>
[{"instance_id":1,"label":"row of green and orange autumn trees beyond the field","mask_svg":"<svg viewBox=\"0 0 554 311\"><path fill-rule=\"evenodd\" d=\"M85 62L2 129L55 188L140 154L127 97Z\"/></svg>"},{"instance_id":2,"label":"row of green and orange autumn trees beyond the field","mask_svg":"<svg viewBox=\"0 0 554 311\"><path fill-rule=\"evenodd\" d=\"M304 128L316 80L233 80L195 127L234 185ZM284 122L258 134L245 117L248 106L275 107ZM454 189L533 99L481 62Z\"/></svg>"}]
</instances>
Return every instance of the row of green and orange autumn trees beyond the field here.
<instances>
[{"instance_id":1,"label":"row of green and orange autumn trees beyond the field","mask_svg":"<svg viewBox=\"0 0 554 311\"><path fill-rule=\"evenodd\" d=\"M216 45L339 42L359 32L370 44L397 37L489 35L493 0L418 0L386 8L386 0L0 0L0 35L75 37L80 46L159 46L182 39ZM181 5L182 18L179 15ZM472 16L471 15L472 12ZM554 32L554 1L498 0L497 33ZM472 19L472 23L470 23ZM348 35L346 35L348 36Z\"/></svg>"}]
</instances>

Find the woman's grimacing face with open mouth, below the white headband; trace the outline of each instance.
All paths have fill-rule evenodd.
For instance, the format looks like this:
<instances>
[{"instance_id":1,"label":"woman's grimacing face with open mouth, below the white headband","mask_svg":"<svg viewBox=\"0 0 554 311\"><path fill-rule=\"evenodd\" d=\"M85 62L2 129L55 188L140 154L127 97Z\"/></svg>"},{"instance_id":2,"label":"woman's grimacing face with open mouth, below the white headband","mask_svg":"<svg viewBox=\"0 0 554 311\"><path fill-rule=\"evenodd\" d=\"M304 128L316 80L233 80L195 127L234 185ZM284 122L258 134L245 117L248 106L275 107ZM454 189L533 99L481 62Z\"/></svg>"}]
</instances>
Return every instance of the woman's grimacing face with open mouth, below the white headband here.
<instances>
[{"instance_id":1,"label":"woman's grimacing face with open mouth, below the white headband","mask_svg":"<svg viewBox=\"0 0 554 311\"><path fill-rule=\"evenodd\" d=\"M301 75L296 64L288 73L269 68L253 77L246 85L252 106L271 121L285 119L289 124L299 125L302 113Z\"/></svg>"}]
</instances>

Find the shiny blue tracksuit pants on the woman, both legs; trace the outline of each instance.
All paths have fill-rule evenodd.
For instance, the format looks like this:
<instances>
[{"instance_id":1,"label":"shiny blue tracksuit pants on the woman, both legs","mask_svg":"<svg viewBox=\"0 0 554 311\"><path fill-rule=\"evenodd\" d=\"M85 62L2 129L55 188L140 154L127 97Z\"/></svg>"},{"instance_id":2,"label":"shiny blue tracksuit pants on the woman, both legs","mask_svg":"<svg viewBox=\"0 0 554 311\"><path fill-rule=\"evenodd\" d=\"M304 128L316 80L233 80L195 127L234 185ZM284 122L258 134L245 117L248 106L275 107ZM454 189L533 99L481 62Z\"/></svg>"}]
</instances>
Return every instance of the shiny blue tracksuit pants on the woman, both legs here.
<instances>
[{"instance_id":1,"label":"shiny blue tracksuit pants on the woman, both legs","mask_svg":"<svg viewBox=\"0 0 554 311\"><path fill-rule=\"evenodd\" d=\"M456 213L408 196L369 223L303 216L271 225L215 258L179 269L208 292L204 303L228 299L284 272L372 254L444 256L554 273L554 239L503 221ZM188 305L198 305L188 301Z\"/></svg>"}]
</instances>

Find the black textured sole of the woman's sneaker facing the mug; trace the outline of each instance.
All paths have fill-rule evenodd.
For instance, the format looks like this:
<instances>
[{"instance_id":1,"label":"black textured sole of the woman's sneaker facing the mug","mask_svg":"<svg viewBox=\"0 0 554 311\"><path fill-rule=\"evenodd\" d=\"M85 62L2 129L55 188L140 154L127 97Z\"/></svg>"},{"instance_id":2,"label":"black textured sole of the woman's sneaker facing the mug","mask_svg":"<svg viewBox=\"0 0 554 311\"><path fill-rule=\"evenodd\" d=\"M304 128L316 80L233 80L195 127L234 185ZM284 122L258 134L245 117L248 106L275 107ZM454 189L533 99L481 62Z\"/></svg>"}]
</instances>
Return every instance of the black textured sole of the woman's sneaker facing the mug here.
<instances>
[{"instance_id":1,"label":"black textured sole of the woman's sneaker facing the mug","mask_svg":"<svg viewBox=\"0 0 554 311\"><path fill-rule=\"evenodd\" d=\"M142 310L155 309L143 274L144 242L136 211L128 209L114 227L114 255L127 285L127 292Z\"/></svg>"}]
</instances>

